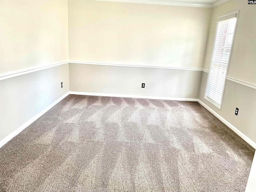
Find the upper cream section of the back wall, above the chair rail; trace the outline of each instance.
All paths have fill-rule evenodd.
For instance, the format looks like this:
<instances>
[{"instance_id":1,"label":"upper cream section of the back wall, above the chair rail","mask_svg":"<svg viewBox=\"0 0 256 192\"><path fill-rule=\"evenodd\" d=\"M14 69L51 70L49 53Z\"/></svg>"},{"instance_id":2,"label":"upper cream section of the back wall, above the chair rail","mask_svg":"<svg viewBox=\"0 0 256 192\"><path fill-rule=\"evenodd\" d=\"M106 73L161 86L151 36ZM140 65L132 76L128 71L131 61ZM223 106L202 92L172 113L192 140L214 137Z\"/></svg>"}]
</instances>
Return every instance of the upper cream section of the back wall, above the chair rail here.
<instances>
[{"instance_id":1,"label":"upper cream section of the back wall, above the chair rail","mask_svg":"<svg viewBox=\"0 0 256 192\"><path fill-rule=\"evenodd\" d=\"M211 8L68 1L71 61L202 68Z\"/></svg>"}]
</instances>

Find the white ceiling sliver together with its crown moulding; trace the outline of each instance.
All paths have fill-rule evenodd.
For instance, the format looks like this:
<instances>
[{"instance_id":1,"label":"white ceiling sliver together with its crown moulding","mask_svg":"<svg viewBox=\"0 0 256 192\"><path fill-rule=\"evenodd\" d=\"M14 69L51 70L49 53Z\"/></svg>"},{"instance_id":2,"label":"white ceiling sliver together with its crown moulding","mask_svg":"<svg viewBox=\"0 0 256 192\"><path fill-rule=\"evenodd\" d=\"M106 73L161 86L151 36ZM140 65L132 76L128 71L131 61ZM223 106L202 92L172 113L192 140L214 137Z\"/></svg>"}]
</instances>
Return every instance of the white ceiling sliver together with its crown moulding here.
<instances>
[{"instance_id":1,"label":"white ceiling sliver together with its crown moulding","mask_svg":"<svg viewBox=\"0 0 256 192\"><path fill-rule=\"evenodd\" d=\"M98 1L158 4L158 5L173 5L173 6L191 6L191 7L216 7L229 0L98 0Z\"/></svg>"}]
</instances>

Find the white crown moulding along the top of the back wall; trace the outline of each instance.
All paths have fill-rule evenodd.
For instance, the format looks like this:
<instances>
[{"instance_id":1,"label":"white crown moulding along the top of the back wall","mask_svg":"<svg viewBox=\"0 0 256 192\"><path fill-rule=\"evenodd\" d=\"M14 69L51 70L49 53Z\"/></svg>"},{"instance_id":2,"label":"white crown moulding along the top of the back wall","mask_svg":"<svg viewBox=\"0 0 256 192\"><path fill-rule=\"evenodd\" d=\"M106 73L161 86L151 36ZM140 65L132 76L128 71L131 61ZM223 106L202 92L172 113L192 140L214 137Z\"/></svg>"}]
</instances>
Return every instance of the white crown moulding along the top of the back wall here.
<instances>
[{"instance_id":1,"label":"white crown moulding along the top of the back wall","mask_svg":"<svg viewBox=\"0 0 256 192\"><path fill-rule=\"evenodd\" d=\"M188 6L188 7L205 7L212 8L213 4L208 3L187 3L175 2L175 0L96 0L96 1L110 1L110 2L123 2L123 3L140 3L140 4L154 4L154 5L172 5L172 6Z\"/></svg>"}]
</instances>

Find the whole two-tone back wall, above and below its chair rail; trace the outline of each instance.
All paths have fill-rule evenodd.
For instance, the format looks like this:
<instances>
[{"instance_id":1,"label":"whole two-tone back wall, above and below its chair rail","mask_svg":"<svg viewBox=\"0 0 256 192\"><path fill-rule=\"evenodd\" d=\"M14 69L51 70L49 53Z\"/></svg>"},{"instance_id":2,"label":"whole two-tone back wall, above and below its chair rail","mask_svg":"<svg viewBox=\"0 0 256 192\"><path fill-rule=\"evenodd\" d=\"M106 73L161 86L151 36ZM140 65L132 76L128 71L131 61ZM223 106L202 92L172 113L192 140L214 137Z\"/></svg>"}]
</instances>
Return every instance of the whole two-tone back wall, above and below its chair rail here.
<instances>
[{"instance_id":1,"label":"whole two-tone back wall, above and below its chair rail","mask_svg":"<svg viewBox=\"0 0 256 192\"><path fill-rule=\"evenodd\" d=\"M211 8L68 2L70 61L202 68ZM70 91L198 98L202 72L70 64ZM146 88L141 88L146 83Z\"/></svg>"}]
</instances>

